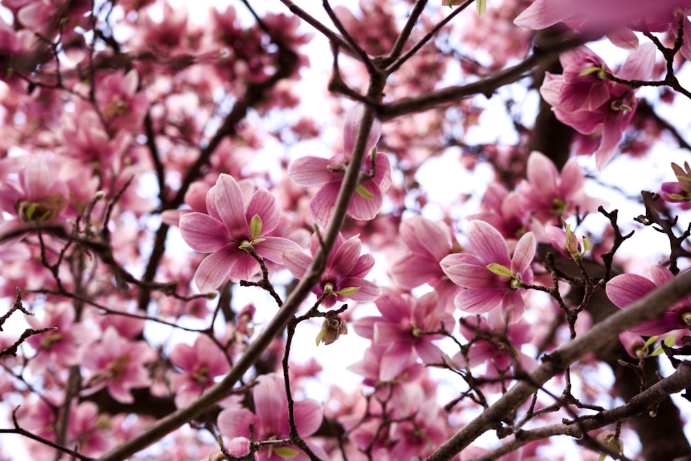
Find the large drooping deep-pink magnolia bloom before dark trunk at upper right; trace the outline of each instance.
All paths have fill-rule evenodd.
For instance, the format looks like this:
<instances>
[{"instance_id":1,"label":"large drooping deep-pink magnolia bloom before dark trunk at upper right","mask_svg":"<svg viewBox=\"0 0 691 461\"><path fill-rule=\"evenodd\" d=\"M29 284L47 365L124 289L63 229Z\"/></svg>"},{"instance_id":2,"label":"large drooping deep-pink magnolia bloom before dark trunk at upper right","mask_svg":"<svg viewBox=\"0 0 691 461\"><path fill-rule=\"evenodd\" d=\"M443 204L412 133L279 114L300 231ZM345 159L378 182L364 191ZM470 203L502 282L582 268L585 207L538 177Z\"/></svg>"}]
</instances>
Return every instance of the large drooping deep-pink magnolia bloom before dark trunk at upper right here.
<instances>
[{"instance_id":1,"label":"large drooping deep-pink magnolia bloom before dark trunk at upper right","mask_svg":"<svg viewBox=\"0 0 691 461\"><path fill-rule=\"evenodd\" d=\"M646 43L626 58L618 77L647 80L652 77L655 64L655 46ZM636 110L638 101L634 90L625 84L607 80L611 73L595 53L585 47L560 56L565 69L563 75L545 74L540 93L564 124L582 134L602 130L602 141L595 153L598 169L612 160L621 135Z\"/></svg>"}]
</instances>

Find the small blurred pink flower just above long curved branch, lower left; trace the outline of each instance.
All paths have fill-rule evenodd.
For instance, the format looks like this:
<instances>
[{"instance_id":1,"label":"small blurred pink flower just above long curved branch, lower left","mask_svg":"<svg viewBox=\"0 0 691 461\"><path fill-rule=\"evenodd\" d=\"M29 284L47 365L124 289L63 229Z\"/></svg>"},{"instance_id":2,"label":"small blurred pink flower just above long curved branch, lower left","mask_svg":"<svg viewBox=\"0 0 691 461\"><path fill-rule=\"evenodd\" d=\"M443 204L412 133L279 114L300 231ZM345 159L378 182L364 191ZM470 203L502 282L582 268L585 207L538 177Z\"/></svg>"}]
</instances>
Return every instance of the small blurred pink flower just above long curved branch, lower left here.
<instances>
[{"instance_id":1,"label":"small blurred pink flower just above long curved branch, lower left","mask_svg":"<svg viewBox=\"0 0 691 461\"><path fill-rule=\"evenodd\" d=\"M187 406L214 384L214 378L230 369L223 351L206 335L200 335L194 346L181 343L171 352L171 363L182 370L173 376L175 404Z\"/></svg>"}]
</instances>

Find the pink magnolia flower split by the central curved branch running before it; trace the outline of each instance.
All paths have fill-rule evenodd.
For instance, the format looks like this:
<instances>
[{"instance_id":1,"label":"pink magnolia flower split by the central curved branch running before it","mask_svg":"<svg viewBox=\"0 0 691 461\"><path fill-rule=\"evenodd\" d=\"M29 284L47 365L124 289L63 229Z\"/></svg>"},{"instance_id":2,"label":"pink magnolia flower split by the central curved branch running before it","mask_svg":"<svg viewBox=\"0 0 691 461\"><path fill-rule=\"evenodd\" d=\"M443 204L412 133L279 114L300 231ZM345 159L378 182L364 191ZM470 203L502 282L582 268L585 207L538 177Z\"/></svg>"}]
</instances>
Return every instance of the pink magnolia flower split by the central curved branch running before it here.
<instances>
[{"instance_id":1,"label":"pink magnolia flower split by the central curved branch running before it","mask_svg":"<svg viewBox=\"0 0 691 461\"><path fill-rule=\"evenodd\" d=\"M353 106L345 117L342 153L337 153L332 158L314 156L299 158L288 167L288 176L296 184L305 187L323 185L310 200L310 215L314 222L323 227L328 224L336 205L336 198L343 182L343 173L352 156L362 111L362 106ZM375 148L380 135L381 124L375 120L367 140L367 152ZM374 171L370 171L372 156L374 156ZM366 179L358 186L357 194L350 199L348 214L354 219L370 220L379 213L383 194L391 186L391 165L386 153L377 152L366 156L362 169L361 176ZM370 175L372 175L371 178Z\"/></svg>"}]
</instances>

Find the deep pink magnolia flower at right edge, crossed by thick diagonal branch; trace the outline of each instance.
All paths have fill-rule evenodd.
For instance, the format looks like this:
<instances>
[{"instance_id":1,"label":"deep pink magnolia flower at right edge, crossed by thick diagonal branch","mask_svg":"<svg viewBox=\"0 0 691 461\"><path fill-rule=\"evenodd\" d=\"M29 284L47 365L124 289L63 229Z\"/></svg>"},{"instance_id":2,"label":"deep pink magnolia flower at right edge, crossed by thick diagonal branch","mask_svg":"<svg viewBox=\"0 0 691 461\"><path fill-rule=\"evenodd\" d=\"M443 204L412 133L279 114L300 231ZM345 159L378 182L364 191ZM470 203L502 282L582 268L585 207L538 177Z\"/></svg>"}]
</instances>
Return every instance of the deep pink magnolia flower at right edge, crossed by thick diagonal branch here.
<instances>
[{"instance_id":1,"label":"deep pink magnolia flower at right edge, crossed by thick diagonal branch","mask_svg":"<svg viewBox=\"0 0 691 461\"><path fill-rule=\"evenodd\" d=\"M650 267L652 281L636 274L621 274L607 282L607 297L620 309L627 308L646 294L665 285L674 275L661 265ZM646 320L630 332L643 336L664 335L674 330L691 331L691 296L677 301L663 314L661 319Z\"/></svg>"}]
</instances>

